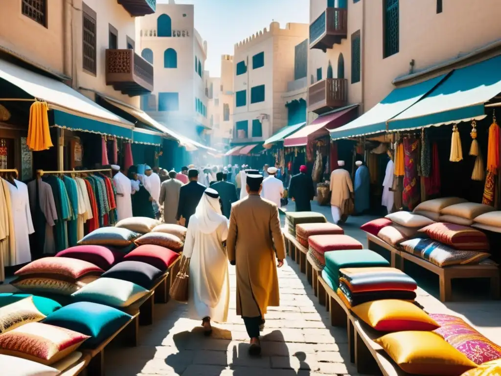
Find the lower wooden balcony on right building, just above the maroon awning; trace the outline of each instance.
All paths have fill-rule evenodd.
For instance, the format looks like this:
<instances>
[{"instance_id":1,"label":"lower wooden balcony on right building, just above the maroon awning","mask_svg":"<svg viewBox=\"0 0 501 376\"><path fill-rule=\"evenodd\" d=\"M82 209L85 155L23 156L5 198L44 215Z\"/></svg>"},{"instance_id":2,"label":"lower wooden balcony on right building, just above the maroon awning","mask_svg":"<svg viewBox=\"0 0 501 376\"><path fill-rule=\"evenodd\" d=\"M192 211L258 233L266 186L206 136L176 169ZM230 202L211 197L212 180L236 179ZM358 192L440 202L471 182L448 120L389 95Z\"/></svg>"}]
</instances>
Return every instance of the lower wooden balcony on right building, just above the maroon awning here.
<instances>
[{"instance_id":1,"label":"lower wooden balcony on right building, just above the maroon awning","mask_svg":"<svg viewBox=\"0 0 501 376\"><path fill-rule=\"evenodd\" d=\"M308 111L322 114L348 104L348 80L326 78L308 88Z\"/></svg>"}]
</instances>

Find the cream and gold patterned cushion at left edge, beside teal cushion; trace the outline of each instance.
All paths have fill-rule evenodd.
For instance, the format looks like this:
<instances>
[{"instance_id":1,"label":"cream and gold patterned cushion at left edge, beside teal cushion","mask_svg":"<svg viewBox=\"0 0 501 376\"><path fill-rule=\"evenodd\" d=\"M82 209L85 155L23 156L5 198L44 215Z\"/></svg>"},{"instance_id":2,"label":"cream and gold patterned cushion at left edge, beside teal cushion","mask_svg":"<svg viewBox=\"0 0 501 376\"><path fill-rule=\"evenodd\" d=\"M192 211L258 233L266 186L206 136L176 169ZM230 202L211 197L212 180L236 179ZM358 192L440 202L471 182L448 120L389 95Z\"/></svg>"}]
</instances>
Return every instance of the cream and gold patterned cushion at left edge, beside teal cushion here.
<instances>
[{"instance_id":1,"label":"cream and gold patterned cushion at left edge, beside teal cushion","mask_svg":"<svg viewBox=\"0 0 501 376\"><path fill-rule=\"evenodd\" d=\"M17 328L28 322L37 322L45 318L40 312L33 298L27 297L15 303L0 307L0 333Z\"/></svg>"}]
</instances>

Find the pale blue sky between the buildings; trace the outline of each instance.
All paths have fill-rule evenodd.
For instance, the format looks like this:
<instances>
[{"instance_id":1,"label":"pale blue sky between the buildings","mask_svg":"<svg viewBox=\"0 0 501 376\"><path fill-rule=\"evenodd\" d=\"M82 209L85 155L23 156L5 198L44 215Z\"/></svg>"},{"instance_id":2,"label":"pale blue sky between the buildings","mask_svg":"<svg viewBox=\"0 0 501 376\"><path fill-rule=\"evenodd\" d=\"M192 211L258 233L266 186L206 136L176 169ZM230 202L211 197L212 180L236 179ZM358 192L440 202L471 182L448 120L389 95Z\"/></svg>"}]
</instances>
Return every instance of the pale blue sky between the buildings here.
<instances>
[{"instance_id":1,"label":"pale blue sky between the buildings","mask_svg":"<svg viewBox=\"0 0 501 376\"><path fill-rule=\"evenodd\" d=\"M168 3L160 0L157 3ZM221 55L233 55L233 46L276 21L310 22L309 0L176 0L195 6L195 29L207 41L205 69L211 77L220 75Z\"/></svg>"}]
</instances>

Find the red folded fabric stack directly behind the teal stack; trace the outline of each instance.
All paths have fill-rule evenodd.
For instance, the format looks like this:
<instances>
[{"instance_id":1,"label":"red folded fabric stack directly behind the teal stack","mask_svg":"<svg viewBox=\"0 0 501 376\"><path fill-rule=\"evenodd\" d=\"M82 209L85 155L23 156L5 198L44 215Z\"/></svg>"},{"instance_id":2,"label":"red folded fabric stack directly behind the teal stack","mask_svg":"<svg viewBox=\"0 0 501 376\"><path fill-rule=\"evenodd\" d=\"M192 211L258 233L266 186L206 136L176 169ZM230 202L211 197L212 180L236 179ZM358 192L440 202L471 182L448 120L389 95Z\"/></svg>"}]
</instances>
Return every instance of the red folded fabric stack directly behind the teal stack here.
<instances>
[{"instance_id":1,"label":"red folded fabric stack directly behind the teal stack","mask_svg":"<svg viewBox=\"0 0 501 376\"><path fill-rule=\"evenodd\" d=\"M308 245L307 258L319 271L325 267L326 252L364 248L362 243L348 235L314 235L308 238Z\"/></svg>"}]
</instances>

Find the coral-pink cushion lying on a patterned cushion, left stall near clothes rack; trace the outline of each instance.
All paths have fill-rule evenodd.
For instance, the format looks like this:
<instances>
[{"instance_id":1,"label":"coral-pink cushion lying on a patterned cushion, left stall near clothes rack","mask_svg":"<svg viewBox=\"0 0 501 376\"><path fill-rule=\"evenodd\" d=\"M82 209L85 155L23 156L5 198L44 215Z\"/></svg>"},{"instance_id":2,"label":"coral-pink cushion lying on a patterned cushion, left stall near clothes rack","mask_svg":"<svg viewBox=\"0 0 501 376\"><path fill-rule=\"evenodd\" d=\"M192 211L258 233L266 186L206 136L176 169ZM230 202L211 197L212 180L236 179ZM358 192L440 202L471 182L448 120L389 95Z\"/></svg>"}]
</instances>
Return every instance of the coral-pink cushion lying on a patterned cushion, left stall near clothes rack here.
<instances>
[{"instance_id":1,"label":"coral-pink cushion lying on a patterned cushion, left stall near clothes rack","mask_svg":"<svg viewBox=\"0 0 501 376\"><path fill-rule=\"evenodd\" d=\"M22 267L15 275L18 277L50 275L73 282L88 275L100 276L103 272L103 269L87 261L63 257L44 257Z\"/></svg>"}]
</instances>

